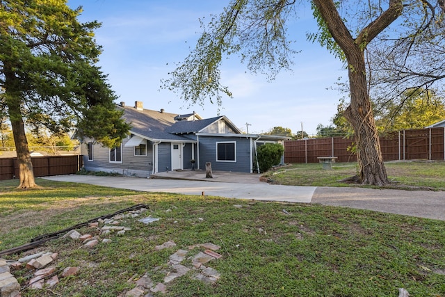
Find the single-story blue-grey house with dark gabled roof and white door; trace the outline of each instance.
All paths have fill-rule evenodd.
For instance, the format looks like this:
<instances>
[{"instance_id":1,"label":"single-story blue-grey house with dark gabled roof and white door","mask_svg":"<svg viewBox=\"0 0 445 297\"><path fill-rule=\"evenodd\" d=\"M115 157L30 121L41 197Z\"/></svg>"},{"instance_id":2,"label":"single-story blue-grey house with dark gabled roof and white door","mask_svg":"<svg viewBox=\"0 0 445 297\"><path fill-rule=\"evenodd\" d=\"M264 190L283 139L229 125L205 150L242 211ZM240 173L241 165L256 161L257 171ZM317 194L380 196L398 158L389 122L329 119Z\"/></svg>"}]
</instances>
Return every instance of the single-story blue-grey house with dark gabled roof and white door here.
<instances>
[{"instance_id":1,"label":"single-story blue-grey house with dark gabled roof and white door","mask_svg":"<svg viewBox=\"0 0 445 297\"><path fill-rule=\"evenodd\" d=\"M170 170L205 170L205 163L211 162L213 170L254 172L256 147L286 139L243 134L225 115L203 119L197 113L152 111L138 101L135 106L121 102L116 108L131 123L130 135L112 149L84 141L81 154L86 170L149 177Z\"/></svg>"}]
</instances>

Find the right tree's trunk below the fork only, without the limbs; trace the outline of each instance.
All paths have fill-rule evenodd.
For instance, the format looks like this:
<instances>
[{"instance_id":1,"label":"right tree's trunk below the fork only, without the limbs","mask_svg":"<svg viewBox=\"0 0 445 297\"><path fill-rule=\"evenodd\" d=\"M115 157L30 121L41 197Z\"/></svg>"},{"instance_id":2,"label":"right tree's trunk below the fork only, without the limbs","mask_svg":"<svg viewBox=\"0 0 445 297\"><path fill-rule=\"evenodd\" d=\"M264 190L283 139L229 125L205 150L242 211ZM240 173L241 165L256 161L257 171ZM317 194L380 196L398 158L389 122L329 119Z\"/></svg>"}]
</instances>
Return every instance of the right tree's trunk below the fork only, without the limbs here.
<instances>
[{"instance_id":1,"label":"right tree's trunk below the fork only, without the limbs","mask_svg":"<svg viewBox=\"0 0 445 297\"><path fill-rule=\"evenodd\" d=\"M377 127L366 85L364 56L359 49L348 56L350 105L344 115L353 126L359 163L359 182L383 186L388 183Z\"/></svg>"}]
</instances>

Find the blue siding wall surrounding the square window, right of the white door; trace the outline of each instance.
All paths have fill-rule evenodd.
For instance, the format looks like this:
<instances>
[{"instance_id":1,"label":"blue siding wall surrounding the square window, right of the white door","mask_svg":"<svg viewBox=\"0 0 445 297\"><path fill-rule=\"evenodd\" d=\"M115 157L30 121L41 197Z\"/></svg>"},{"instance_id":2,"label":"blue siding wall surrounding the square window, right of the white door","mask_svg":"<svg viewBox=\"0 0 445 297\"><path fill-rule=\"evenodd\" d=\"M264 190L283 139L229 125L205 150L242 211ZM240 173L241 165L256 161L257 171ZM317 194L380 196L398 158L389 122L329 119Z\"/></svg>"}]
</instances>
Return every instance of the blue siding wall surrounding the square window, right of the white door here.
<instances>
[{"instance_id":1,"label":"blue siding wall surrounding the square window, right of the white door","mask_svg":"<svg viewBox=\"0 0 445 297\"><path fill-rule=\"evenodd\" d=\"M217 161L217 143L236 143L236 161ZM206 162L211 162L212 170L251 172L250 138L200 136L200 169L205 170Z\"/></svg>"}]
</instances>

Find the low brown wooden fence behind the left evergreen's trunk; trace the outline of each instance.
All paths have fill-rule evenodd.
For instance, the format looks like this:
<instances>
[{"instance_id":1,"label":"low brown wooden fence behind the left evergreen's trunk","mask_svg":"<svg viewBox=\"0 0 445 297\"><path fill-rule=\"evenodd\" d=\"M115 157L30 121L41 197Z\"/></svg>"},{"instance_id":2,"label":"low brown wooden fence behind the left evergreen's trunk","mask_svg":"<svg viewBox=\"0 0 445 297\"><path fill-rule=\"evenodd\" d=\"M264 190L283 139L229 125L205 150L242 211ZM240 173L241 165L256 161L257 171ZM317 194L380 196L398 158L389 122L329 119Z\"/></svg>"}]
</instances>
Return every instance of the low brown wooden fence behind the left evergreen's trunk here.
<instances>
[{"instance_id":1,"label":"low brown wooden fence behind the left evergreen's trunk","mask_svg":"<svg viewBox=\"0 0 445 297\"><path fill-rule=\"evenodd\" d=\"M79 171L83 166L83 156L33 156L33 170L35 177L49 175L70 175ZM0 158L0 180L19 177L17 158Z\"/></svg>"}]
</instances>

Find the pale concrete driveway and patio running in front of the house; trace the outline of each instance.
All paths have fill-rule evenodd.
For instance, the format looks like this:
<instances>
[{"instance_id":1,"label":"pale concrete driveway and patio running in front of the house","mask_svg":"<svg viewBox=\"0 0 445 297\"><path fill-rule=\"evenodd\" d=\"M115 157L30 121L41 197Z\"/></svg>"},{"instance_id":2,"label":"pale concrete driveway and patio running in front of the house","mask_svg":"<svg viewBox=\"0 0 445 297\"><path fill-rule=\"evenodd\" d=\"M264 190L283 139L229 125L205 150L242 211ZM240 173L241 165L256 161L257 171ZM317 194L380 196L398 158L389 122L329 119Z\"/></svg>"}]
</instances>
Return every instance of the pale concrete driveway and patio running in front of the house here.
<instances>
[{"instance_id":1,"label":"pale concrete driveway and patio running in front of the house","mask_svg":"<svg viewBox=\"0 0 445 297\"><path fill-rule=\"evenodd\" d=\"M147 192L324 204L445 220L445 192L280 186L260 182L260 175L250 173L213 172L213 178L206 179L201 170L162 172L152 177L61 175L45 179Z\"/></svg>"}]
</instances>

